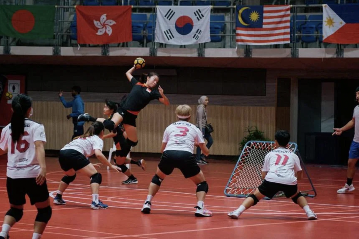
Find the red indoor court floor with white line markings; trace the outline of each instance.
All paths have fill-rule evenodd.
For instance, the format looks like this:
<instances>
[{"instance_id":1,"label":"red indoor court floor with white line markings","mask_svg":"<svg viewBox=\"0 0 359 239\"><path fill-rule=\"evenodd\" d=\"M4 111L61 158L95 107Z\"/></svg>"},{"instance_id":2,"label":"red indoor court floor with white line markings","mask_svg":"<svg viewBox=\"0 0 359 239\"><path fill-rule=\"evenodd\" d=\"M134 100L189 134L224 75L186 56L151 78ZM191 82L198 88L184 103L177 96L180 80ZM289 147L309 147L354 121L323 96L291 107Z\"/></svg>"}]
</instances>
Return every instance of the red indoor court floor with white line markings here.
<instances>
[{"instance_id":1,"label":"red indoor court floor with white line markings","mask_svg":"<svg viewBox=\"0 0 359 239\"><path fill-rule=\"evenodd\" d=\"M0 211L4 215L9 205L6 159L2 159ZM345 183L345 168L308 166L318 193L317 197L308 198L318 215L316 221L308 221L303 210L290 199L263 200L233 220L227 213L236 209L243 199L224 196L234 163L222 161L200 166L210 187L205 205L213 211L213 217L194 216L196 186L185 180L177 169L163 181L151 214L141 214L157 163L148 161L145 172L137 166L131 167L138 185L122 185L121 181L126 179L122 173L107 171L106 167L99 169L102 173L100 199L110 206L106 210L90 209L89 178L79 174L64 193L67 205L52 207L52 218L42 238L359 238L359 190L346 195L336 193ZM47 158L47 168L47 183L53 197L63 174L57 158ZM354 181L355 184L359 185L358 181ZM308 180L300 181L299 188L308 188ZM10 231L11 239L32 236L37 211L27 201L22 220Z\"/></svg>"}]
</instances>

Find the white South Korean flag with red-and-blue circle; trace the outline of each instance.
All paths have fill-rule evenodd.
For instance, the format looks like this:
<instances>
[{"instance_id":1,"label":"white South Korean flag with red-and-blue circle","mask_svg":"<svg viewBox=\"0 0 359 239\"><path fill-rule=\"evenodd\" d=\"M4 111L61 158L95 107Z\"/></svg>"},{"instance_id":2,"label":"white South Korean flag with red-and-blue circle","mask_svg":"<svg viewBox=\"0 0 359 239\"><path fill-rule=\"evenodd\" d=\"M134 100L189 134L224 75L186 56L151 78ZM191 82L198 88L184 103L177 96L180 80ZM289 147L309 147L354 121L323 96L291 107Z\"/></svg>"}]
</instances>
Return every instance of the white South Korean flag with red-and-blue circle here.
<instances>
[{"instance_id":1,"label":"white South Korean flag with red-and-blue circle","mask_svg":"<svg viewBox=\"0 0 359 239\"><path fill-rule=\"evenodd\" d=\"M210 42L211 6L157 6L155 42L188 45Z\"/></svg>"}]
</instances>

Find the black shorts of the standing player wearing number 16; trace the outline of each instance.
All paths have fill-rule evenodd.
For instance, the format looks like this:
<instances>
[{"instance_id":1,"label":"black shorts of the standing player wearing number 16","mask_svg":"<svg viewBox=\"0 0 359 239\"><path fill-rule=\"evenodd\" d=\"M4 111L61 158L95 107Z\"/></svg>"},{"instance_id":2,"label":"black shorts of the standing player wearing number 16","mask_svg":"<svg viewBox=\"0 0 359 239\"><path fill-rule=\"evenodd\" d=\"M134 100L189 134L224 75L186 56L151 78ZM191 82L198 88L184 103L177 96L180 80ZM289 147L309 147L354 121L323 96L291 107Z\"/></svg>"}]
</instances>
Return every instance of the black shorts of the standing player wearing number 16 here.
<instances>
[{"instance_id":1,"label":"black shorts of the standing player wearing number 16","mask_svg":"<svg viewBox=\"0 0 359 239\"><path fill-rule=\"evenodd\" d=\"M46 181L40 186L36 184L36 178L6 178L6 190L10 204L24 205L25 194L30 198L31 205L44 202L48 199Z\"/></svg>"}]
</instances>

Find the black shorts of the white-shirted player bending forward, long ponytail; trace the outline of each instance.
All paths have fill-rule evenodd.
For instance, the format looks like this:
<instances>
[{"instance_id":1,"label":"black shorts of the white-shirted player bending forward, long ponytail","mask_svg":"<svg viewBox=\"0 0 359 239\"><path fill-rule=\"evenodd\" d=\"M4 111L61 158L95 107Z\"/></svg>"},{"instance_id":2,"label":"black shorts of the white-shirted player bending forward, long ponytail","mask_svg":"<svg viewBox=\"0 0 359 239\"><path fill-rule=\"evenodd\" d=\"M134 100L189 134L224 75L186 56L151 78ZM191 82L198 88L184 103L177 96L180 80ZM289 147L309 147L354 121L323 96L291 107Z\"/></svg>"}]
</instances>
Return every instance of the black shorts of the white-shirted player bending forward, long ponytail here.
<instances>
[{"instance_id":1,"label":"black shorts of the white-shirted player bending forward, long ponytail","mask_svg":"<svg viewBox=\"0 0 359 239\"><path fill-rule=\"evenodd\" d=\"M65 172L69 171L71 168L78 171L90 164L90 161L75 149L60 150L59 162L61 169Z\"/></svg>"}]
</instances>

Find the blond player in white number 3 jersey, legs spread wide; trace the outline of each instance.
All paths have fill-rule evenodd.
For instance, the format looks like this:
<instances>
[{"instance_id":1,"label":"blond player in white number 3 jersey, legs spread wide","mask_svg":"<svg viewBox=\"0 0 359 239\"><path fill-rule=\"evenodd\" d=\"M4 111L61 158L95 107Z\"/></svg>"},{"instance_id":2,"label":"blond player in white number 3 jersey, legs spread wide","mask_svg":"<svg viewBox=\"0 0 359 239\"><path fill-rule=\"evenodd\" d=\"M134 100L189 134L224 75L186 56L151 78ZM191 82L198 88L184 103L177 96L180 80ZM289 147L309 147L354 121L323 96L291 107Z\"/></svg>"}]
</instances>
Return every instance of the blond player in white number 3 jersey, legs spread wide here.
<instances>
[{"instance_id":1,"label":"blond player in white number 3 jersey, legs spread wide","mask_svg":"<svg viewBox=\"0 0 359 239\"><path fill-rule=\"evenodd\" d=\"M147 199L141 212L148 214L151 211L151 201L159 190L162 181L173 172L174 168L181 170L185 178L190 178L196 185L197 210L195 216L212 216L212 212L204 207L204 199L208 192L208 184L193 156L194 145L198 145L205 156L209 149L206 147L202 132L189 123L192 109L188 105L179 105L176 109L178 121L169 125L163 134L161 160L157 172L149 186Z\"/></svg>"}]
</instances>

